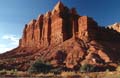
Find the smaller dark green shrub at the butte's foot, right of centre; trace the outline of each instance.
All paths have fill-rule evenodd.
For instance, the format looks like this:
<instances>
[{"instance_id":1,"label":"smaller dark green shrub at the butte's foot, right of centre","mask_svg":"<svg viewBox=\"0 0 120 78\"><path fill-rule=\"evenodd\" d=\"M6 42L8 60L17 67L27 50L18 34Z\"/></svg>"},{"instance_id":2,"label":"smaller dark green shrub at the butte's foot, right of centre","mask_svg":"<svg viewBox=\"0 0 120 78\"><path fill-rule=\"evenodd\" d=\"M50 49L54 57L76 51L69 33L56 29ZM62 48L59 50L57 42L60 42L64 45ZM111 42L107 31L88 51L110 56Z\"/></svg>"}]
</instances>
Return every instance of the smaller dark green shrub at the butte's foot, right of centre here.
<instances>
[{"instance_id":1,"label":"smaller dark green shrub at the butte's foot, right of centre","mask_svg":"<svg viewBox=\"0 0 120 78\"><path fill-rule=\"evenodd\" d=\"M90 65L90 64L83 64L80 67L81 72L93 72L93 71L95 71L94 69L95 69L95 66Z\"/></svg>"}]
</instances>

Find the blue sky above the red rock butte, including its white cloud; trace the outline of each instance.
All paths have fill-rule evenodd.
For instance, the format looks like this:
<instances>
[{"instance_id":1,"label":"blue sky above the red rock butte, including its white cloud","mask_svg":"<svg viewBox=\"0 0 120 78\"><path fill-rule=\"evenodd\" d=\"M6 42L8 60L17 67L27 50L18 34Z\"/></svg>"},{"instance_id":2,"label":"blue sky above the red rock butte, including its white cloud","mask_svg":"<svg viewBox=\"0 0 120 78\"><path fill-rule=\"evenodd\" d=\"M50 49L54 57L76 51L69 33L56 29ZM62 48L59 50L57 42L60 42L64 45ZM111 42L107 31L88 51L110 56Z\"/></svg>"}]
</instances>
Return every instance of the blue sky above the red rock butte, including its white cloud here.
<instances>
[{"instance_id":1,"label":"blue sky above the red rock butte, including its white cloud","mask_svg":"<svg viewBox=\"0 0 120 78\"><path fill-rule=\"evenodd\" d=\"M120 0L61 0L100 26L120 22ZM17 47L24 25L53 9L58 0L0 0L0 53Z\"/></svg>"}]
</instances>

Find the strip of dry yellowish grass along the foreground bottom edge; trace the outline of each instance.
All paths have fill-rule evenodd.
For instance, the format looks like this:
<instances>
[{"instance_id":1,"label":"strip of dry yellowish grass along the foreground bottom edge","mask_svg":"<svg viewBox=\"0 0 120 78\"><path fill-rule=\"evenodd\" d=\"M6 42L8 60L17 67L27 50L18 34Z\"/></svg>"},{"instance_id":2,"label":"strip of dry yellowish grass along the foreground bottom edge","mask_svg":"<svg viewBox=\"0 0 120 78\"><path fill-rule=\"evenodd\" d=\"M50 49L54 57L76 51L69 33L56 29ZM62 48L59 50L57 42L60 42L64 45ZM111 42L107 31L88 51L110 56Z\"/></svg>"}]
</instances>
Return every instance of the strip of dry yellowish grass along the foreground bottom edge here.
<instances>
[{"instance_id":1,"label":"strip of dry yellowish grass along the foreground bottom edge","mask_svg":"<svg viewBox=\"0 0 120 78\"><path fill-rule=\"evenodd\" d=\"M54 73L39 73L32 74L23 71L0 71L1 77L40 77L40 78L120 78L120 72L93 72L93 73L80 73L80 72L62 72L59 75L55 75Z\"/></svg>"}]
</instances>

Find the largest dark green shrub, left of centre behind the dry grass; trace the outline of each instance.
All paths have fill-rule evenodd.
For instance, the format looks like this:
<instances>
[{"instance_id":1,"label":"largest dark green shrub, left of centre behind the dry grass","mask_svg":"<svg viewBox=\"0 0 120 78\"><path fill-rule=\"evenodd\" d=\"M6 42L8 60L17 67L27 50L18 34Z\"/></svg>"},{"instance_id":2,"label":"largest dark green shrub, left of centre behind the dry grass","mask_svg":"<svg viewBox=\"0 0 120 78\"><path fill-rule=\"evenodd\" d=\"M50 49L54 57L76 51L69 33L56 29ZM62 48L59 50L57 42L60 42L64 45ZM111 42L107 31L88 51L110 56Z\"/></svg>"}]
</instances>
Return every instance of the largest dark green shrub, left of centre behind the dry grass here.
<instances>
[{"instance_id":1,"label":"largest dark green shrub, left of centre behind the dry grass","mask_svg":"<svg viewBox=\"0 0 120 78\"><path fill-rule=\"evenodd\" d=\"M28 69L30 73L48 73L52 69L52 66L47 62L37 60L32 66Z\"/></svg>"}]
</instances>

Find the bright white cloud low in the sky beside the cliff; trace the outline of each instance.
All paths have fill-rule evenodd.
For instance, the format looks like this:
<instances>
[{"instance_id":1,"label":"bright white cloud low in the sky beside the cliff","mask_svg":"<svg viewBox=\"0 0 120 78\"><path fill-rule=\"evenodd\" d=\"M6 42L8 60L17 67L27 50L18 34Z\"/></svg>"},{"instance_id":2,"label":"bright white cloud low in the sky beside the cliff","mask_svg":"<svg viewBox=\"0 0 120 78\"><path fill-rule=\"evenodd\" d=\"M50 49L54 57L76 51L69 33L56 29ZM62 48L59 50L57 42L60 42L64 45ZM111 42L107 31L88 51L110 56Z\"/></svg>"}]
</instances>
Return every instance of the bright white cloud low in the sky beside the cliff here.
<instances>
[{"instance_id":1,"label":"bright white cloud low in the sky beside the cliff","mask_svg":"<svg viewBox=\"0 0 120 78\"><path fill-rule=\"evenodd\" d=\"M19 38L11 34L3 35L0 40L2 41L2 43L0 43L0 53L10 51L19 44Z\"/></svg>"}]
</instances>

